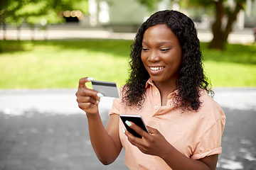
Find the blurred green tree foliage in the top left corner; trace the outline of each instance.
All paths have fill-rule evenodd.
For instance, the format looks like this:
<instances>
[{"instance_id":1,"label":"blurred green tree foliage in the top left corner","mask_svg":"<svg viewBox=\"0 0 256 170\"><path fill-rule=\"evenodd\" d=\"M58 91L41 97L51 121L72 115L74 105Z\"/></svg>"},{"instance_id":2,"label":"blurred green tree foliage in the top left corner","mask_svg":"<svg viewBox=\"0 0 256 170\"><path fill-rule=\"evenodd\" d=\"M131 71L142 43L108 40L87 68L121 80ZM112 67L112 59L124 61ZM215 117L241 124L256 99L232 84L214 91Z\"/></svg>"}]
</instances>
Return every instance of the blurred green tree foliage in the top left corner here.
<instances>
[{"instance_id":1,"label":"blurred green tree foliage in the top left corner","mask_svg":"<svg viewBox=\"0 0 256 170\"><path fill-rule=\"evenodd\" d=\"M60 11L88 13L87 8L87 0L0 0L0 23L18 28L24 22L32 29L36 24L46 27L65 22Z\"/></svg>"}]
</instances>

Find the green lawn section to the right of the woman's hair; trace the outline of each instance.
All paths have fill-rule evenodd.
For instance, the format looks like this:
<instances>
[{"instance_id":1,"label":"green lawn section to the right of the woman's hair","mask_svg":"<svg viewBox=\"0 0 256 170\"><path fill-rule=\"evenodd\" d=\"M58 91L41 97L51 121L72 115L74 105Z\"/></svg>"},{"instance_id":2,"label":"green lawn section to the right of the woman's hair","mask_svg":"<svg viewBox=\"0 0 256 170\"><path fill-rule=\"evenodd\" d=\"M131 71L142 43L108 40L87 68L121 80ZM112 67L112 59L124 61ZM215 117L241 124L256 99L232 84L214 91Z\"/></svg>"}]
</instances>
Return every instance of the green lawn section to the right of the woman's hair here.
<instances>
[{"instance_id":1,"label":"green lawn section to the right of the woman's hair","mask_svg":"<svg viewBox=\"0 0 256 170\"><path fill-rule=\"evenodd\" d=\"M201 43L206 75L213 87L256 86L256 44L228 44L225 51Z\"/></svg>"}]
</instances>

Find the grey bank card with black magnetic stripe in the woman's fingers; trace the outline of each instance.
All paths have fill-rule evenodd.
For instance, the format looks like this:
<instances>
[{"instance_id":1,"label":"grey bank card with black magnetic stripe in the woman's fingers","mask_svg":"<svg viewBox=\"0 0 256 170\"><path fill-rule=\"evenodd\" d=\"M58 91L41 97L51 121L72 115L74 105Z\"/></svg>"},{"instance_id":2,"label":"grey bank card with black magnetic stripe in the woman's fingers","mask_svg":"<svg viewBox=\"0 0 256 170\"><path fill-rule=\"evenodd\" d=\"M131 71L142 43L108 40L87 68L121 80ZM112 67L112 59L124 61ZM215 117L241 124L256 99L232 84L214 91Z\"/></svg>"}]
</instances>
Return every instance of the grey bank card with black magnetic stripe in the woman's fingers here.
<instances>
[{"instance_id":1,"label":"grey bank card with black magnetic stripe in the woman's fingers","mask_svg":"<svg viewBox=\"0 0 256 170\"><path fill-rule=\"evenodd\" d=\"M119 98L119 92L115 82L92 80L92 89L99 91L104 96Z\"/></svg>"}]
</instances>

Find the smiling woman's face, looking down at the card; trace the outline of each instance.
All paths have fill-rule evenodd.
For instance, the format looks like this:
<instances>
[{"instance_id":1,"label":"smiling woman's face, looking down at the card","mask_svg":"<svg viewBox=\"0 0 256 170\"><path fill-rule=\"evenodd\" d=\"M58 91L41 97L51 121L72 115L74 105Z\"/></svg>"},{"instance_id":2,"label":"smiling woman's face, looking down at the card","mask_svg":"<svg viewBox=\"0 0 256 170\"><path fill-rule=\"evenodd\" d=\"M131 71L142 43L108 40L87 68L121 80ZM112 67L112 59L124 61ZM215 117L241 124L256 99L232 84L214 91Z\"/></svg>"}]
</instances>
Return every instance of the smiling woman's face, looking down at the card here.
<instances>
[{"instance_id":1,"label":"smiling woman's face, looking down at the card","mask_svg":"<svg viewBox=\"0 0 256 170\"><path fill-rule=\"evenodd\" d=\"M142 39L142 62L154 82L176 83L182 60L178 38L165 24L146 29Z\"/></svg>"}]
</instances>

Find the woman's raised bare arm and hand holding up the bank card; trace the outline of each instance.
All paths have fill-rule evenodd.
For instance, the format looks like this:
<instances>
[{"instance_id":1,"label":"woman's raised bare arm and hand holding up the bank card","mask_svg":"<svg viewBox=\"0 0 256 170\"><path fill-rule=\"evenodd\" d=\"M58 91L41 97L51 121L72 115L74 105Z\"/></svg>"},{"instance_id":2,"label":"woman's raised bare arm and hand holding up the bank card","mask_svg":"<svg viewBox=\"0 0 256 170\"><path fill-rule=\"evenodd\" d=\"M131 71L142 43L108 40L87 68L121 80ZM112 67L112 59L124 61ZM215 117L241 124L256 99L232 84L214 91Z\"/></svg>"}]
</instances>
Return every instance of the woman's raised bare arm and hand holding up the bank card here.
<instances>
[{"instance_id":1,"label":"woman's raised bare arm and hand holding up the bank card","mask_svg":"<svg viewBox=\"0 0 256 170\"><path fill-rule=\"evenodd\" d=\"M119 140L119 115L110 115L106 129L100 118L98 104L100 97L97 91L88 89L87 78L80 79L76 93L78 106L86 112L92 147L102 164L111 164L121 152Z\"/></svg>"}]
</instances>

